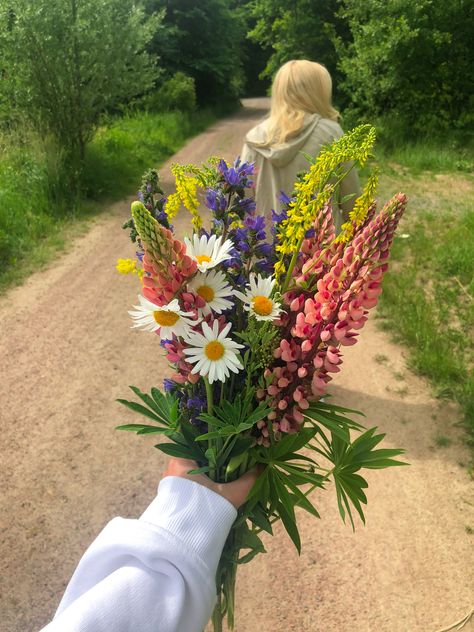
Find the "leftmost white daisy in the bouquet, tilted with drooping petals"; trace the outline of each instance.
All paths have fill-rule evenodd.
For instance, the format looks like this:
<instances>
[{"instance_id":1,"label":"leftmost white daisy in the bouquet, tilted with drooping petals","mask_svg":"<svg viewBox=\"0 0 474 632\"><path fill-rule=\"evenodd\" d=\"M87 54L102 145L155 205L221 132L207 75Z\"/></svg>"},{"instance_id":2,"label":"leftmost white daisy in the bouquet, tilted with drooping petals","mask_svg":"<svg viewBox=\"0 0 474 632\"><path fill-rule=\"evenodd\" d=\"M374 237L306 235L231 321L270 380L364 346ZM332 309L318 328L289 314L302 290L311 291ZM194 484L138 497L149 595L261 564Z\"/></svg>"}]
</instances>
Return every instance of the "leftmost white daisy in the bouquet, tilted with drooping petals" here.
<instances>
[{"instance_id":1,"label":"leftmost white daisy in the bouquet, tilted with drooping petals","mask_svg":"<svg viewBox=\"0 0 474 632\"><path fill-rule=\"evenodd\" d=\"M193 312L182 312L178 299L175 298L160 307L144 296L139 296L140 305L134 305L136 312L128 313L135 321L133 327L142 327L145 331L158 331L162 340L171 340L175 336L186 336L193 325L198 321L192 320Z\"/></svg>"}]
</instances>

